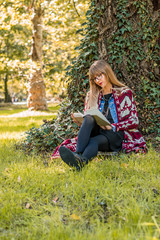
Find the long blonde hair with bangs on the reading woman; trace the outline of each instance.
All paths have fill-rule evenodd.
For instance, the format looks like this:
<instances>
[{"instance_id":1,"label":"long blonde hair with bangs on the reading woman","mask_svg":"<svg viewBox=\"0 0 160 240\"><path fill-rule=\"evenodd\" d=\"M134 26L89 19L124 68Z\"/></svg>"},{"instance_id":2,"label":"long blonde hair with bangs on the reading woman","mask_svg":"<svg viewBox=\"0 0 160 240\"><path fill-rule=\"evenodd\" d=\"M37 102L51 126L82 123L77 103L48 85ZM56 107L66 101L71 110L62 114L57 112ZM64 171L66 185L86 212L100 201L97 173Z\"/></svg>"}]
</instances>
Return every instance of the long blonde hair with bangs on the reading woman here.
<instances>
[{"instance_id":1,"label":"long blonde hair with bangs on the reading woman","mask_svg":"<svg viewBox=\"0 0 160 240\"><path fill-rule=\"evenodd\" d=\"M101 90L101 87L95 83L94 79L96 76L100 75L101 73L103 73L109 79L110 83L115 88L126 87L123 83L118 81L112 68L108 63L106 63L104 60L95 61L89 69L90 91L87 97L88 98L87 108L97 106L98 95Z\"/></svg>"}]
</instances>

